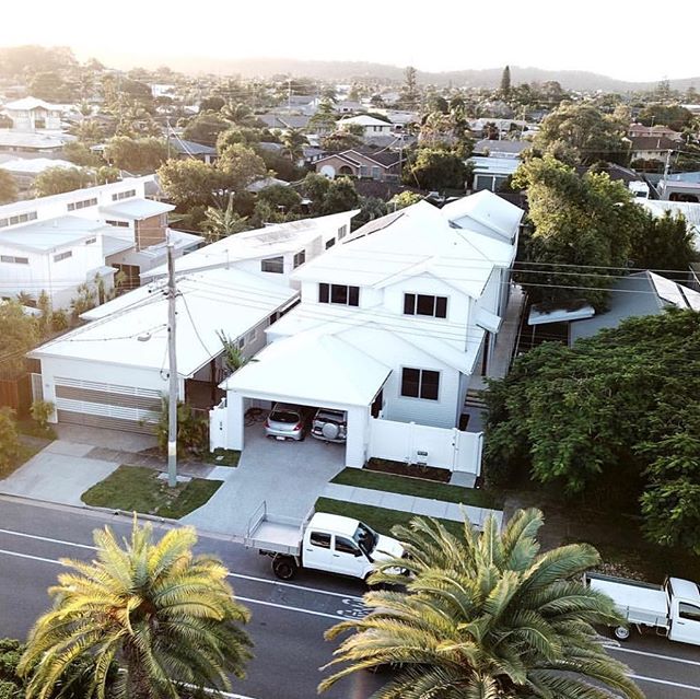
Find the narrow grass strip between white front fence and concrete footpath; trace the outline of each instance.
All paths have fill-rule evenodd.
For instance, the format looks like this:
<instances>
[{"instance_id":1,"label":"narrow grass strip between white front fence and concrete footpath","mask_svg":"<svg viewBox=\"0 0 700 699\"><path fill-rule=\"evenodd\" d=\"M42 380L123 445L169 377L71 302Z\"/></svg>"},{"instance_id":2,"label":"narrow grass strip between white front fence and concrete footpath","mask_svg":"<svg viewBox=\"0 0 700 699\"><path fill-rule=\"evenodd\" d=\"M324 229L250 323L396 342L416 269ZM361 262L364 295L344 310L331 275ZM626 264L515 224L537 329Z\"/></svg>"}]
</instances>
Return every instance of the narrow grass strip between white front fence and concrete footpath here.
<instances>
[{"instance_id":1,"label":"narrow grass strip between white front fence and concrete footpath","mask_svg":"<svg viewBox=\"0 0 700 699\"><path fill-rule=\"evenodd\" d=\"M462 486L448 486L434 480L407 478L394 474L381 474L361 468L346 468L341 470L330 482L342 486L355 486L358 488L371 488L385 490L401 496L416 496L431 500L444 500L457 502L475 508L489 508L498 510L503 506L503 500L486 490L463 488Z\"/></svg>"}]
</instances>

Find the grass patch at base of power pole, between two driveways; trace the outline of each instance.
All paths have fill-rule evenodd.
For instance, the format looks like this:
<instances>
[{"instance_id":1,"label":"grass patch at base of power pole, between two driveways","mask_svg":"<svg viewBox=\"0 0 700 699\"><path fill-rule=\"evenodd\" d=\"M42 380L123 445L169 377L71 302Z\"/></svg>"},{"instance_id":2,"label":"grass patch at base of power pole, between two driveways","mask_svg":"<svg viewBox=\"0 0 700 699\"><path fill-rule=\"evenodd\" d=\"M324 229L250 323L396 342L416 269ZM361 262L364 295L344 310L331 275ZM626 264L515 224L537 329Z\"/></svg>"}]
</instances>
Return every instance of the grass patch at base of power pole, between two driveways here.
<instances>
[{"instance_id":1,"label":"grass patch at base of power pole, between two driveways","mask_svg":"<svg viewBox=\"0 0 700 699\"><path fill-rule=\"evenodd\" d=\"M222 480L192 478L187 484L168 488L159 473L145 466L119 466L103 481L82 494L82 501L98 508L156 514L179 520L205 504Z\"/></svg>"}]
</instances>

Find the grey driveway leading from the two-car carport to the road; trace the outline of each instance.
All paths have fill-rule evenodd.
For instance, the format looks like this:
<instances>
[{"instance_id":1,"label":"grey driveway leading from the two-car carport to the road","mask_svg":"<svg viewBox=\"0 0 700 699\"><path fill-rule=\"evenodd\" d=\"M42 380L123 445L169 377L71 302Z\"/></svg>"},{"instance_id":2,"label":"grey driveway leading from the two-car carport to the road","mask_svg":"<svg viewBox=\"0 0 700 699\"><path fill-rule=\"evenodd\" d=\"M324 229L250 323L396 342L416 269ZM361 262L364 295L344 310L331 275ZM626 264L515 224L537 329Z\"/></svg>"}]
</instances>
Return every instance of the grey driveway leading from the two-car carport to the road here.
<instances>
[{"instance_id":1,"label":"grey driveway leading from the two-car carport to the road","mask_svg":"<svg viewBox=\"0 0 700 699\"><path fill-rule=\"evenodd\" d=\"M264 500L268 512L302 520L326 484L343 469L345 455L345 444L312 436L303 442L278 442L264 435L261 424L254 424L246 428L237 468L215 468L215 478L224 479L223 486L182 522L244 536L248 520Z\"/></svg>"}]
</instances>

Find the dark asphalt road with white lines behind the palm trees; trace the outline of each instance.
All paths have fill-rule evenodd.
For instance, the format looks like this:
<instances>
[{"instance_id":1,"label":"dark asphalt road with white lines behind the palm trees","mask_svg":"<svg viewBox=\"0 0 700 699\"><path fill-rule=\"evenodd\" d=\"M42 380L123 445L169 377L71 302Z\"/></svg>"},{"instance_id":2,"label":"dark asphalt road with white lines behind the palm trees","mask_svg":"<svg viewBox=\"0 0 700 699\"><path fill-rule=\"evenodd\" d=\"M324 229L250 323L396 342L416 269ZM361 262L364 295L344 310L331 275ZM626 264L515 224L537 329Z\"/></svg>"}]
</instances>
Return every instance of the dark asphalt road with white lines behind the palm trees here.
<instances>
[{"instance_id":1,"label":"dark asphalt road with white lines behind the palm trees","mask_svg":"<svg viewBox=\"0 0 700 699\"><path fill-rule=\"evenodd\" d=\"M0 637L24 638L46 610L46 590L59 558L90 559L92 531L109 524L128 534L130 522L102 513L46 506L0 497ZM324 631L362 614L362 583L303 571L292 583L277 581L269 559L241 545L201 537L199 548L219 555L236 596L253 611L248 627L255 660L235 696L245 699L310 699L331 657ZM700 648L655 637L633 637L623 645L610 639L610 653L625 662L649 699L700 699ZM327 697L366 699L383 678L357 674Z\"/></svg>"}]
</instances>

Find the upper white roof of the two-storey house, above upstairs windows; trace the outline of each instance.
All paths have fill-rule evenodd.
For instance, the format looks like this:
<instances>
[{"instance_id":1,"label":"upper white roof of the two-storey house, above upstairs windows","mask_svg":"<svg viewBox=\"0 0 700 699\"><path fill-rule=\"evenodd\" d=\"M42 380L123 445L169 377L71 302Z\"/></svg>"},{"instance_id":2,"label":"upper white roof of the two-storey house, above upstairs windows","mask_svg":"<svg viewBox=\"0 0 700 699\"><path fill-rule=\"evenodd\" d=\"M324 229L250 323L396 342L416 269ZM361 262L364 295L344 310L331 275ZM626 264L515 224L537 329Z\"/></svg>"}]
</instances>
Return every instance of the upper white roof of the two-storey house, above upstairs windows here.
<instances>
[{"instance_id":1,"label":"upper white roof of the two-storey house, above upstairs windows","mask_svg":"<svg viewBox=\"0 0 700 699\"><path fill-rule=\"evenodd\" d=\"M509 267L515 256L511 243L454 228L425 201L402 209L382 229L372 225L372 231L360 229L292 278L381 288L428 273L478 299L493 268Z\"/></svg>"}]
</instances>

